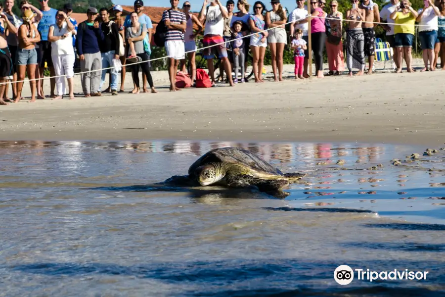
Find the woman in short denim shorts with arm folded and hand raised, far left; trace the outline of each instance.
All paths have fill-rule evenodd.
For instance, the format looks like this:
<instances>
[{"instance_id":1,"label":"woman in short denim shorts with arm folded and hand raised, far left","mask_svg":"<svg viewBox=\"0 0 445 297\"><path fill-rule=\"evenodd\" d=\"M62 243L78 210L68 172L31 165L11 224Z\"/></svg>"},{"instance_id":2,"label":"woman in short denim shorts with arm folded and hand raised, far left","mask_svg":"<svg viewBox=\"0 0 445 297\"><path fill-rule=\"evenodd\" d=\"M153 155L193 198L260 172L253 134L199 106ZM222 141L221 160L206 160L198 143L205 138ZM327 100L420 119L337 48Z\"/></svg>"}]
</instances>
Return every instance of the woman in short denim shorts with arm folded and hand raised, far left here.
<instances>
[{"instance_id":1,"label":"woman in short denim shorts with arm folded and hand raised, far left","mask_svg":"<svg viewBox=\"0 0 445 297\"><path fill-rule=\"evenodd\" d=\"M36 66L37 51L35 44L40 41L40 34L36 26L33 24L34 17L37 14L31 9L23 12L23 24L19 27L18 41L19 49L17 50L17 97L14 102L21 99L23 80L25 79L26 70L28 70L29 84L31 86L31 101L36 101ZM28 68L28 69L27 69Z\"/></svg>"}]
</instances>

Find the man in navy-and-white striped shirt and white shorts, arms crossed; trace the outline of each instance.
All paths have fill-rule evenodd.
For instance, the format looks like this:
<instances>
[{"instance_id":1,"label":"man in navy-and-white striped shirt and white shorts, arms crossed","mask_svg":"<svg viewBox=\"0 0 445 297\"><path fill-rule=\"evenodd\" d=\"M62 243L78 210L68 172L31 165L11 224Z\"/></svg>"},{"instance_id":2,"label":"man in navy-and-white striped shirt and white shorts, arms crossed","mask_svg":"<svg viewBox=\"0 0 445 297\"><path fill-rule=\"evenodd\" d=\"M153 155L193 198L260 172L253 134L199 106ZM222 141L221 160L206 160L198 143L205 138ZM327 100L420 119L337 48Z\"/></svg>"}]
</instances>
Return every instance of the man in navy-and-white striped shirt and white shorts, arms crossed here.
<instances>
[{"instance_id":1,"label":"man in navy-and-white striped shirt and white shorts, arms crossed","mask_svg":"<svg viewBox=\"0 0 445 297\"><path fill-rule=\"evenodd\" d=\"M175 86L176 72L178 71L179 61L185 58L184 35L187 21L185 14L178 9L179 0L170 0L172 8L165 10L162 14L162 20L167 27L165 38L165 50L169 57L169 78L170 91L180 91Z\"/></svg>"}]
</instances>

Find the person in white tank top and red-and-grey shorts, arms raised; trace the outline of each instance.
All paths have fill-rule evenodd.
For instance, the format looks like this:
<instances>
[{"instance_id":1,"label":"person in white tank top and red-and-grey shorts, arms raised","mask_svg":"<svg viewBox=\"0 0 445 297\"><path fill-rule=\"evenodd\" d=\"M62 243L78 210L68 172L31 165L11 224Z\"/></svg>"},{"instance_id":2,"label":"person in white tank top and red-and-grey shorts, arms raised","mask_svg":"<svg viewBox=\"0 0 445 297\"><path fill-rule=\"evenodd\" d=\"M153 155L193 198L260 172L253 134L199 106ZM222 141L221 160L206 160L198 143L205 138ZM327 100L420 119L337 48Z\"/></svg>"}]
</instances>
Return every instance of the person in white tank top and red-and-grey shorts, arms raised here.
<instances>
[{"instance_id":1,"label":"person in white tank top and red-and-grey shorts, arms raised","mask_svg":"<svg viewBox=\"0 0 445 297\"><path fill-rule=\"evenodd\" d=\"M204 0L198 19L202 23L206 22L204 29L204 38L202 44L204 48L203 57L207 59L207 67L209 69L210 78L212 79L212 87L215 85L215 68L213 66L214 53L221 58L230 86L233 86L232 72L230 71L230 62L227 58L227 50L223 40L224 19L228 18L227 8L221 4L220 0L214 0L207 6L207 0Z\"/></svg>"}]
</instances>

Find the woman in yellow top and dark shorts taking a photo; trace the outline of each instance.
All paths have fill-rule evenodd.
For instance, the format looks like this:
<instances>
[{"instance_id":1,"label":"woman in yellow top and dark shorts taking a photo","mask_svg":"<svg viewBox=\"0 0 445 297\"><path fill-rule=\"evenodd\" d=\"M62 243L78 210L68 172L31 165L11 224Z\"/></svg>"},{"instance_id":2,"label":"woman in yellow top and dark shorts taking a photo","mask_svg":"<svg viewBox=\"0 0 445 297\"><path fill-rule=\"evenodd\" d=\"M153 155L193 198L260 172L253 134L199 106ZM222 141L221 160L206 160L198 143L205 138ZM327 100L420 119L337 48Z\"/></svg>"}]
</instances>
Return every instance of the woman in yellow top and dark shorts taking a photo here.
<instances>
[{"instance_id":1,"label":"woman in yellow top and dark shorts taking a photo","mask_svg":"<svg viewBox=\"0 0 445 297\"><path fill-rule=\"evenodd\" d=\"M403 56L405 57L406 70L413 72L411 67L412 55L412 41L414 39L414 23L419 14L411 7L411 2L408 0L401 0L400 6L390 14L390 18L395 20L394 27L395 48L398 51L397 58L399 60L396 73L401 73L401 65L403 62ZM403 52L403 55L402 55Z\"/></svg>"}]
</instances>

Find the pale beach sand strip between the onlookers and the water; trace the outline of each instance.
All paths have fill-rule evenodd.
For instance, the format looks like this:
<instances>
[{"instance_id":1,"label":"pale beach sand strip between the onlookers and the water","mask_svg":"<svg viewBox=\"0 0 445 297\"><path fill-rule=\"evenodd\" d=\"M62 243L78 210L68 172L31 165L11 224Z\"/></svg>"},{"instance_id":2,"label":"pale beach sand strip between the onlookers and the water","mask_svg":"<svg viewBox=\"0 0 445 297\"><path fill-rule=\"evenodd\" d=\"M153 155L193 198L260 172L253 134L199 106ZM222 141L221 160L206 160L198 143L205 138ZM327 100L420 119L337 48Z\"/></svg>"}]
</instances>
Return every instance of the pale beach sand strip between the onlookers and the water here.
<instances>
[{"instance_id":1,"label":"pale beach sand strip between the onlookers and the water","mask_svg":"<svg viewBox=\"0 0 445 297\"><path fill-rule=\"evenodd\" d=\"M167 72L157 71L158 94L25 99L0 106L0 139L444 144L445 71L295 81L293 67L284 82L169 92ZM75 83L81 92L79 76ZM132 89L130 73L125 85Z\"/></svg>"}]
</instances>

